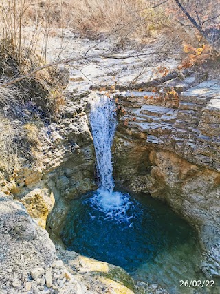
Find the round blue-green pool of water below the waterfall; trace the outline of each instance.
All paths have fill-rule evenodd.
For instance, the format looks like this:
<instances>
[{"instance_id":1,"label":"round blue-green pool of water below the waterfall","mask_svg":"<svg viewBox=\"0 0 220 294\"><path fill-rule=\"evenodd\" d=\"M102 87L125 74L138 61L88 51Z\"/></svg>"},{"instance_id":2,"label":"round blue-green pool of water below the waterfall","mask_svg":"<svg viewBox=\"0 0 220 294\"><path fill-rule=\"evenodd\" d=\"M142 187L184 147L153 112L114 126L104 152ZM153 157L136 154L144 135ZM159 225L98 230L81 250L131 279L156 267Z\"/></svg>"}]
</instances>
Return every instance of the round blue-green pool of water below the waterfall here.
<instances>
[{"instance_id":1,"label":"round blue-green pool of water below the waterfall","mask_svg":"<svg viewBox=\"0 0 220 294\"><path fill-rule=\"evenodd\" d=\"M195 230L151 196L119 194L126 210L116 209L115 215L98 209L96 192L72 202L61 233L67 249L121 266L137 280L162 284L170 293L192 293L179 290L179 280L202 277Z\"/></svg>"}]
</instances>

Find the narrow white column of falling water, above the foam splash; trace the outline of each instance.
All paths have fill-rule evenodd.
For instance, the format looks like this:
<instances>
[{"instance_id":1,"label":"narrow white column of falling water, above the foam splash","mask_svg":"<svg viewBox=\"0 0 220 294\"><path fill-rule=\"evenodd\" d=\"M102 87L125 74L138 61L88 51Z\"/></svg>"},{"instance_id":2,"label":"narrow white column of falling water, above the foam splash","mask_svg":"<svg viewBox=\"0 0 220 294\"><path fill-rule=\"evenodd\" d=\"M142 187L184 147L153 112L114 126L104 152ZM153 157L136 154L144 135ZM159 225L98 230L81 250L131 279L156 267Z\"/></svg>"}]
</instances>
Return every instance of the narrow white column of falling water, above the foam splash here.
<instances>
[{"instance_id":1,"label":"narrow white column of falling water, above the foam splash","mask_svg":"<svg viewBox=\"0 0 220 294\"><path fill-rule=\"evenodd\" d=\"M90 124L96 151L98 187L109 192L114 188L111 145L117 126L115 108L115 101L106 95L97 95L91 102Z\"/></svg>"}]
</instances>

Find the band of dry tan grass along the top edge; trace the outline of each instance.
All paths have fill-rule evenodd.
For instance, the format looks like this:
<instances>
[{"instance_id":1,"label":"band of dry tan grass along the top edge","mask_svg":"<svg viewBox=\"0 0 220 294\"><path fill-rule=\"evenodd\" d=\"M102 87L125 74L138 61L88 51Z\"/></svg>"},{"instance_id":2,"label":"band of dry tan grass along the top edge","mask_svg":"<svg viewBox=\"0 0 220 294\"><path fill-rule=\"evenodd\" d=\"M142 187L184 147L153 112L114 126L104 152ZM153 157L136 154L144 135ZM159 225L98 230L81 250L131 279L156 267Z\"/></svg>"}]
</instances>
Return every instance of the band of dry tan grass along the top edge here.
<instances>
[{"instance_id":1,"label":"band of dry tan grass along the top edge","mask_svg":"<svg viewBox=\"0 0 220 294\"><path fill-rule=\"evenodd\" d=\"M182 1L204 30L217 28L218 2ZM56 34L56 28L71 28L91 38L110 33L144 43L164 33L182 41L188 36L195 39L195 30L174 0L0 0L0 16L0 39L10 41L20 62L23 47L28 54L38 52L39 61L45 62L49 36Z\"/></svg>"}]
</instances>

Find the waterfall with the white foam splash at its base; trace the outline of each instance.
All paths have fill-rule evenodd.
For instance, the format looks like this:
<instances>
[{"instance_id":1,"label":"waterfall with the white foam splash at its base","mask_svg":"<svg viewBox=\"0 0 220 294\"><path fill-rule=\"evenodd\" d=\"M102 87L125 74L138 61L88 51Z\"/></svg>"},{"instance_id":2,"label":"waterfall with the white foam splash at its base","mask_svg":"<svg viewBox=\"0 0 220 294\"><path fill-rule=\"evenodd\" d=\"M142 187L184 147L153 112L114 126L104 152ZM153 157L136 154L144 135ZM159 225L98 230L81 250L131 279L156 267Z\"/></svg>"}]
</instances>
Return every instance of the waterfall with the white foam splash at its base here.
<instances>
[{"instance_id":1,"label":"waterfall with the white foam splash at its base","mask_svg":"<svg viewBox=\"0 0 220 294\"><path fill-rule=\"evenodd\" d=\"M96 151L96 170L99 189L87 203L106 214L107 218L128 220L126 211L133 204L129 194L114 192L111 145L117 127L116 105L112 97L97 95L91 101L90 124Z\"/></svg>"}]
</instances>

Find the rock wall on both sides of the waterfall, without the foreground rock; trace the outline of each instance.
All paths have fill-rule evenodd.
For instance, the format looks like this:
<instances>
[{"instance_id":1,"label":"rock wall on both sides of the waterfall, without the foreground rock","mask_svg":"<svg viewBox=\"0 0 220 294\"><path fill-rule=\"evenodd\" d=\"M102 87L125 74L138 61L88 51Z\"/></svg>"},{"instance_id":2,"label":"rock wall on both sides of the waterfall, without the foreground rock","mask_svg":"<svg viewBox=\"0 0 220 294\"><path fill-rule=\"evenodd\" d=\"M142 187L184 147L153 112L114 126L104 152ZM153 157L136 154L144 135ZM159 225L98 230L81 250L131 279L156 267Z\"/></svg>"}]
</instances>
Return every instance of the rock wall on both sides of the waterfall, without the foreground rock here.
<instances>
[{"instance_id":1,"label":"rock wall on both sides of the waterfall, without the foreground rock","mask_svg":"<svg viewBox=\"0 0 220 294\"><path fill-rule=\"evenodd\" d=\"M176 66L170 59L164 62L170 69ZM140 82L153 78L154 67L161 65L160 60L148 63ZM41 227L47 222L53 238L61 231L69 201L96 189L88 121L88 102L96 96L91 81L113 89L117 81L126 88L141 65L133 57L126 65L99 58L84 73L70 70L67 104L56 122L41 128L37 164L26 162L8 181L0 179L1 191L20 200ZM146 197L150 193L195 226L207 253L203 269L208 276L220 276L219 93L219 81L197 84L188 77L148 91L113 94L119 120L112 148L116 187Z\"/></svg>"}]
</instances>

